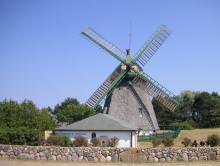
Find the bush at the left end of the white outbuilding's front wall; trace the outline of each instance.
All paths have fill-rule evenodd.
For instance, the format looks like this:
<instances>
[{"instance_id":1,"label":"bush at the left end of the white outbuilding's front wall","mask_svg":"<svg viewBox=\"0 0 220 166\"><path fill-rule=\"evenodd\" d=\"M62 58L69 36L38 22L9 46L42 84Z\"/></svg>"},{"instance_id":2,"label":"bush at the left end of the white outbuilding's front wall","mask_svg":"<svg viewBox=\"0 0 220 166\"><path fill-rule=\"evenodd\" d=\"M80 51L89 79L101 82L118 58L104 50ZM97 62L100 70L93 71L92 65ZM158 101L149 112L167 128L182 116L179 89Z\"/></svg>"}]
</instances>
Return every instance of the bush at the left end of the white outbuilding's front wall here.
<instances>
[{"instance_id":1,"label":"bush at the left end of the white outbuilding's front wall","mask_svg":"<svg viewBox=\"0 0 220 166\"><path fill-rule=\"evenodd\" d=\"M71 146L72 142L67 136L51 135L47 139L49 145L55 146Z\"/></svg>"}]
</instances>

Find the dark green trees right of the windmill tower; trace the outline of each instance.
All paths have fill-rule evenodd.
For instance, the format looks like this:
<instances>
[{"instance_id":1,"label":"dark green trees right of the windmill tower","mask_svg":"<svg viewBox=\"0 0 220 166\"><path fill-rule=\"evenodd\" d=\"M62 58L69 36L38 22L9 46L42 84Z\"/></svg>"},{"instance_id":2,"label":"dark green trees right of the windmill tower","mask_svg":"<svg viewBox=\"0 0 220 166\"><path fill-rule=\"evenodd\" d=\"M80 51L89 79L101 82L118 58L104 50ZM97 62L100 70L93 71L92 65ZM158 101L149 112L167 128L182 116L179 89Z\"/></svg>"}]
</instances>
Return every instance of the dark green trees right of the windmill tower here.
<instances>
[{"instance_id":1,"label":"dark green trees right of the windmill tower","mask_svg":"<svg viewBox=\"0 0 220 166\"><path fill-rule=\"evenodd\" d=\"M174 112L166 109L155 99L152 100L160 125L185 124L188 126L187 128L220 126L220 96L218 93L183 91L176 97L176 100L179 105Z\"/></svg>"}]
</instances>

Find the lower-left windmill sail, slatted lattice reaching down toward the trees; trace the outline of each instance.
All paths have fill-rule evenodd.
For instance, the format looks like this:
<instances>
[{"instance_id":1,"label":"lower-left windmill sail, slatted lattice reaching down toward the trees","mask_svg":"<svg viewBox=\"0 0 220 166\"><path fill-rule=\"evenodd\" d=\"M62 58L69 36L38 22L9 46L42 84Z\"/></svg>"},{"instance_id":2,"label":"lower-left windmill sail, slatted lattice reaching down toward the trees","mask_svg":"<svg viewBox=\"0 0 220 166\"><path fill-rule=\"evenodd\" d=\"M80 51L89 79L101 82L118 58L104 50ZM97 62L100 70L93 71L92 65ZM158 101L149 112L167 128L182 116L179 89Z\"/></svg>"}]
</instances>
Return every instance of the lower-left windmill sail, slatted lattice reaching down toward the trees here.
<instances>
[{"instance_id":1,"label":"lower-left windmill sail, slatted lattice reaching down toward the trees","mask_svg":"<svg viewBox=\"0 0 220 166\"><path fill-rule=\"evenodd\" d=\"M96 108L96 106L113 90L113 88L121 82L127 71L120 72L118 69L119 67L107 77L101 86L87 100L86 105L91 108Z\"/></svg>"}]
</instances>

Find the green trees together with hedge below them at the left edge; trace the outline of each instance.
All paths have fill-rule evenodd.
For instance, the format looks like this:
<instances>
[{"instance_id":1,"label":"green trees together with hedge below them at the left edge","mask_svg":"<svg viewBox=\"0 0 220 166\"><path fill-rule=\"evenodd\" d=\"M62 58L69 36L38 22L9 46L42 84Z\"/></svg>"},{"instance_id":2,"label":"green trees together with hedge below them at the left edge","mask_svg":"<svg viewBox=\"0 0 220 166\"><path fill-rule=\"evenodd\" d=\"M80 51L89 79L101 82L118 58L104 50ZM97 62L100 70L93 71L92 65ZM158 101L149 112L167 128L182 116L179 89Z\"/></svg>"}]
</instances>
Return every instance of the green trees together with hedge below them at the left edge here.
<instances>
[{"instance_id":1,"label":"green trees together with hedge below them at the left edge","mask_svg":"<svg viewBox=\"0 0 220 166\"><path fill-rule=\"evenodd\" d=\"M39 110L30 100L0 102L0 144L36 145L43 131L55 126L47 109Z\"/></svg>"}]
</instances>

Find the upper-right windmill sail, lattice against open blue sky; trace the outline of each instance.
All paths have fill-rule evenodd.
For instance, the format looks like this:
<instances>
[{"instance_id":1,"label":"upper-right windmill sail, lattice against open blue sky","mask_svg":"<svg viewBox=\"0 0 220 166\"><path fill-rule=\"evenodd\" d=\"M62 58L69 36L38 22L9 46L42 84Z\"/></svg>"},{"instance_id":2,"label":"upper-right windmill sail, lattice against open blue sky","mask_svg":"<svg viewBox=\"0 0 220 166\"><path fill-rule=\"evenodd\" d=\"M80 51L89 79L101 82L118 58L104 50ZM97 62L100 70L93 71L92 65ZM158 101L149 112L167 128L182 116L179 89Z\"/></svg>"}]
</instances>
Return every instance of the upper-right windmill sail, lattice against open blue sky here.
<instances>
[{"instance_id":1,"label":"upper-right windmill sail, lattice against open blue sky","mask_svg":"<svg viewBox=\"0 0 220 166\"><path fill-rule=\"evenodd\" d=\"M156 31L152 35L152 37L144 44L144 46L138 51L135 62L138 62L141 66L145 66L145 64L156 53L159 47L169 37L170 33L171 32L165 25L161 25L159 30Z\"/></svg>"}]
</instances>

